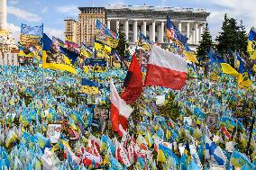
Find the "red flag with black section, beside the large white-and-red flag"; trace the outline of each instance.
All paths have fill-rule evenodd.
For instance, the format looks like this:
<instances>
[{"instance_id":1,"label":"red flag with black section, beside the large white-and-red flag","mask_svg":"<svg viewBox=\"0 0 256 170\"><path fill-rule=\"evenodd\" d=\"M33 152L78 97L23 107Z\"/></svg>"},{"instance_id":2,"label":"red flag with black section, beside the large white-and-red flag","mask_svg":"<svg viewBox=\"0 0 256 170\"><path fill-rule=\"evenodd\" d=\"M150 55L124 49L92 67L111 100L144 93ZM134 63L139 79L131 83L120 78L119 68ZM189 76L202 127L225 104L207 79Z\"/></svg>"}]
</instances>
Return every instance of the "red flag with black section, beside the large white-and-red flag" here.
<instances>
[{"instance_id":1,"label":"red flag with black section, beside the large white-and-red flag","mask_svg":"<svg viewBox=\"0 0 256 170\"><path fill-rule=\"evenodd\" d=\"M133 54L131 65L125 77L123 86L125 87L125 90L123 94L121 94L121 97L128 104L136 101L136 99L142 94L142 69L135 53Z\"/></svg>"}]
</instances>

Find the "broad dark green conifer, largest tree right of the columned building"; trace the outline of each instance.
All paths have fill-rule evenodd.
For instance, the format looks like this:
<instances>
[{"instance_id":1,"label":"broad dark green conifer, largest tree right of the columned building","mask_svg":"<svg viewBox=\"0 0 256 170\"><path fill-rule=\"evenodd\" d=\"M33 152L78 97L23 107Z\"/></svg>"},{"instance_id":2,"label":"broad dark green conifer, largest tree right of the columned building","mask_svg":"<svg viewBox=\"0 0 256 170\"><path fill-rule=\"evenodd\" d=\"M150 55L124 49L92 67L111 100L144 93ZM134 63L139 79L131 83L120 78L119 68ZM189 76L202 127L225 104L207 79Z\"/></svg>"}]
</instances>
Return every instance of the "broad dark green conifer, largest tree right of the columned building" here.
<instances>
[{"instance_id":1,"label":"broad dark green conifer, largest tree right of the columned building","mask_svg":"<svg viewBox=\"0 0 256 170\"><path fill-rule=\"evenodd\" d=\"M242 22L237 24L234 18L228 18L227 14L224 15L224 22L222 32L217 36L216 49L221 54L227 54L231 50L246 51L246 34Z\"/></svg>"}]
</instances>

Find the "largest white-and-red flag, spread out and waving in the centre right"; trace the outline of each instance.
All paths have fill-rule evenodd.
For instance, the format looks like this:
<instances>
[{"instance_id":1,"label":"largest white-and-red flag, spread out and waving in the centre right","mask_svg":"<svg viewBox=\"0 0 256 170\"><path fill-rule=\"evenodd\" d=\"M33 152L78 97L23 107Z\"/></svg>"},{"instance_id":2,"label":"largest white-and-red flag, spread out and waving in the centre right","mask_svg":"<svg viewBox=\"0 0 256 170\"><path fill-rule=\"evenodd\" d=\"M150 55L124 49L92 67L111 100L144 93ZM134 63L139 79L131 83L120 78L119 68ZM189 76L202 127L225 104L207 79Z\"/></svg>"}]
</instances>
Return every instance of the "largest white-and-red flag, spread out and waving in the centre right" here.
<instances>
[{"instance_id":1,"label":"largest white-and-red flag, spread out and waving in the centre right","mask_svg":"<svg viewBox=\"0 0 256 170\"><path fill-rule=\"evenodd\" d=\"M159 85L180 90L186 85L186 80L186 59L153 45L144 85Z\"/></svg>"}]
</instances>

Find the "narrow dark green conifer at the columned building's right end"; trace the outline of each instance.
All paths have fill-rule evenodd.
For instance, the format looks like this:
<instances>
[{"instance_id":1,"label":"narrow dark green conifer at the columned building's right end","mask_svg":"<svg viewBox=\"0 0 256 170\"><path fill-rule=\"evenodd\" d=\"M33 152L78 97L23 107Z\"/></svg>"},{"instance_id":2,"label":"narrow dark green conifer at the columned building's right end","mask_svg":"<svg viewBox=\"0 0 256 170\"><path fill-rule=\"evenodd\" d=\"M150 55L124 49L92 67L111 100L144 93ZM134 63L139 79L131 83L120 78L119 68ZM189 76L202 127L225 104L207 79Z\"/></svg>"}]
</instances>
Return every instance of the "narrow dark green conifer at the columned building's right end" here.
<instances>
[{"instance_id":1,"label":"narrow dark green conifer at the columned building's right end","mask_svg":"<svg viewBox=\"0 0 256 170\"><path fill-rule=\"evenodd\" d=\"M206 23L206 29L202 34L202 40L200 41L200 45L197 48L197 56L200 61L206 61L211 46L213 45L212 36L210 34L208 23Z\"/></svg>"}]
</instances>

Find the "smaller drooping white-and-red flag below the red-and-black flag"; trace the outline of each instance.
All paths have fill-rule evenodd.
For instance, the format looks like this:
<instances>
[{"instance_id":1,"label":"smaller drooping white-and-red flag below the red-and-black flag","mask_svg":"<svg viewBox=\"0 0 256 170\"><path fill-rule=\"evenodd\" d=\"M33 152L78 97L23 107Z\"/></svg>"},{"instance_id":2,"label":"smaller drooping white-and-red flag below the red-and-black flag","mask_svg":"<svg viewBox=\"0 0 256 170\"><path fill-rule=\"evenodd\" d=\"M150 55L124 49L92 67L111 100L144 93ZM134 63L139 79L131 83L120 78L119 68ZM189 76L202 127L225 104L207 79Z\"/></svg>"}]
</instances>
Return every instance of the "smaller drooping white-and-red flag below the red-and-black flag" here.
<instances>
[{"instance_id":1,"label":"smaller drooping white-and-red flag below the red-and-black flag","mask_svg":"<svg viewBox=\"0 0 256 170\"><path fill-rule=\"evenodd\" d=\"M123 136L128 130L128 118L133 109L119 96L113 81L110 84L110 93L112 129Z\"/></svg>"}]
</instances>

